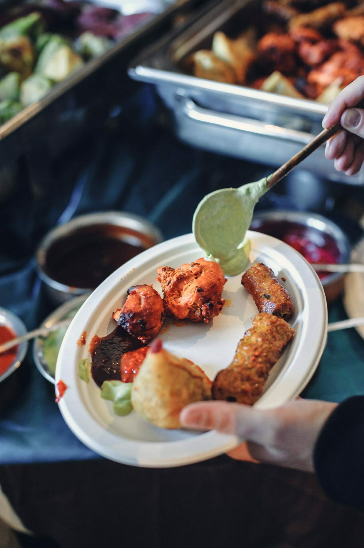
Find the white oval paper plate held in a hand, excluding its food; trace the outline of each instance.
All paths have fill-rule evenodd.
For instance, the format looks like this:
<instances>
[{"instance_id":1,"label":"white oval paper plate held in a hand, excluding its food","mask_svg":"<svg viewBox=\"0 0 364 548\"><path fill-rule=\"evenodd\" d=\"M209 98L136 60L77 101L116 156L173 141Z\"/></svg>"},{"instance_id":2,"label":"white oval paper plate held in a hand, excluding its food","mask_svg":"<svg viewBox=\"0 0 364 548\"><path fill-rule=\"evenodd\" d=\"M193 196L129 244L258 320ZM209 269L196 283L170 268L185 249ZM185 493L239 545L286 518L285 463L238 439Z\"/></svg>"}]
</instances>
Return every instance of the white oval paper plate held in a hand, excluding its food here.
<instances>
[{"instance_id":1,"label":"white oval paper plate held in a hand, excluding its food","mask_svg":"<svg viewBox=\"0 0 364 548\"><path fill-rule=\"evenodd\" d=\"M271 370L259 408L272 408L296 397L314 373L326 342L327 309L319 278L302 255L276 238L250 232L250 260L270 266L275 275L285 277L296 313L291 324L296 336ZM120 267L86 300L67 330L56 366L56 383L67 385L59 406L63 418L86 446L108 459L124 464L149 467L180 466L222 454L241 440L216 431L194 433L165 430L146 423L135 412L125 417L113 413L112 403L100 397L94 381L86 384L77 374L79 359L88 358L88 344L97 334L104 336L115 328L112 312L122 306L126 290L135 284L157 282L158 266L178 267L203 256L188 234L148 249ZM160 338L170 352L191 359L210 379L229 365L238 341L251 327L257 314L252 297L241 286L241 275L228 279L223 312L208 324L189 323L177 327L171 321ZM165 326L164 326L165 327ZM86 330L86 345L77 341Z\"/></svg>"}]
</instances>

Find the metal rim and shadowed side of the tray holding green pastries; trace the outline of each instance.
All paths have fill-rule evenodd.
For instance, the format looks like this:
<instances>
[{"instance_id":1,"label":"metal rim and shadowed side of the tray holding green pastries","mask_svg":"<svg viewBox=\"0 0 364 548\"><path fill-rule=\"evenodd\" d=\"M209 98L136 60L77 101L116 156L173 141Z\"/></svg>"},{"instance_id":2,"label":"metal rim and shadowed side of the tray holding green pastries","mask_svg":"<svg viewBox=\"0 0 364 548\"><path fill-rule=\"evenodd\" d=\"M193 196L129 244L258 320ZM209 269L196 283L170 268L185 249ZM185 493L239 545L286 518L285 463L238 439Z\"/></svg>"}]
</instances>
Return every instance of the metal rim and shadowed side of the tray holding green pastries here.
<instances>
[{"instance_id":1,"label":"metal rim and shadowed side of the tray holding green pastries","mask_svg":"<svg viewBox=\"0 0 364 548\"><path fill-rule=\"evenodd\" d=\"M132 56L170 30L178 16L186 16L203 2L176 0L115 42L107 53L55 85L43 99L0 125L0 165L11 165L24 155L32 157L33 149L43 158L54 158L85 133L99 130L109 112L135 91L135 84L125 76ZM0 9L22 3L0 0Z\"/></svg>"}]
</instances>

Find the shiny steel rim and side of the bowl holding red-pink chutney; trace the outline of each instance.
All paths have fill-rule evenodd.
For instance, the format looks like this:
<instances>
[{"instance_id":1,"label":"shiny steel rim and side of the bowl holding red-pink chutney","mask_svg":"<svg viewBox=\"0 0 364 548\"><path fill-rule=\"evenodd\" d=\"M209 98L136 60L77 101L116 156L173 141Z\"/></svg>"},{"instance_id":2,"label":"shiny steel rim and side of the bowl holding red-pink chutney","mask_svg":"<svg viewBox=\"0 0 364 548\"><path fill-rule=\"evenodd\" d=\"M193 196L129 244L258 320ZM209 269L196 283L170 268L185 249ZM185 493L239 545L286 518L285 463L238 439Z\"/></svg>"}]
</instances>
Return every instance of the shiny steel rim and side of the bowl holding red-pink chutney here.
<instances>
[{"instance_id":1,"label":"shiny steel rim and side of the bowl holding red-pink chutney","mask_svg":"<svg viewBox=\"0 0 364 548\"><path fill-rule=\"evenodd\" d=\"M338 252L338 263L350 262L351 246L348 237L333 221L323 215L298 211L264 211L253 216L251 230L264 232L269 236L281 238L282 230L287 223L295 223L307 227L313 237L329 237L335 243ZM265 226L264 226L265 225ZM344 287L344 275L338 272L330 273L321 279L327 302L332 302L340 295Z\"/></svg>"}]
</instances>

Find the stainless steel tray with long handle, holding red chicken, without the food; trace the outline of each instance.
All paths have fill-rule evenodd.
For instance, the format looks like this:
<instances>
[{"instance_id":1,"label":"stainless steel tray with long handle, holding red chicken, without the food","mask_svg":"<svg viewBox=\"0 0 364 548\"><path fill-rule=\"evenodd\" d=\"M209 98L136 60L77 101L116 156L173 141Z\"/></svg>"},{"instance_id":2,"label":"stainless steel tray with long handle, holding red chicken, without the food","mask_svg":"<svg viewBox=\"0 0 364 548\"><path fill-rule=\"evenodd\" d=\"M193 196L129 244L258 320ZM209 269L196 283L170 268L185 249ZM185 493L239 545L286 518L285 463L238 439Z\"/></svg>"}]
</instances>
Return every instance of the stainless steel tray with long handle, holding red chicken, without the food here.
<instances>
[{"instance_id":1,"label":"stainless steel tray with long handle, holding red chicken, without the food","mask_svg":"<svg viewBox=\"0 0 364 548\"><path fill-rule=\"evenodd\" d=\"M131 78L156 85L173 112L176 133L201 149L279 166L302 149L322 127L327 106L308 99L263 92L190 76L184 61L199 49L211 49L217 30L232 36L237 22L253 22L255 0L223 0L200 10L183 28L169 33L132 62ZM348 178L326 160L323 147L301 164L326 179L362 184L364 170Z\"/></svg>"}]
</instances>

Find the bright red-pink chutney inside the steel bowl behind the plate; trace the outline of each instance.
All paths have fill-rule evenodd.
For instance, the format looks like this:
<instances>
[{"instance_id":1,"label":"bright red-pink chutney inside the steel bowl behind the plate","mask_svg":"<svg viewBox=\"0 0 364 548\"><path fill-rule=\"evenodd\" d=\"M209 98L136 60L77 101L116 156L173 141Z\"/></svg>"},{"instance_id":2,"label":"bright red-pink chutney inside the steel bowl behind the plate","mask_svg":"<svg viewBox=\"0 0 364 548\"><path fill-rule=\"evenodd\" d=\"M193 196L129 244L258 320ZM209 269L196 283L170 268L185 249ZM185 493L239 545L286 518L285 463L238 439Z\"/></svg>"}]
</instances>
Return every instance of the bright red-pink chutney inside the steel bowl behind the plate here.
<instances>
[{"instance_id":1,"label":"bright red-pink chutney inside the steel bowl behind the plate","mask_svg":"<svg viewBox=\"0 0 364 548\"><path fill-rule=\"evenodd\" d=\"M299 222L267 220L259 222L253 230L274 236L296 249L312 264L338 264L340 249L330 234ZM317 272L320 279L330 276L328 272Z\"/></svg>"}]
</instances>

